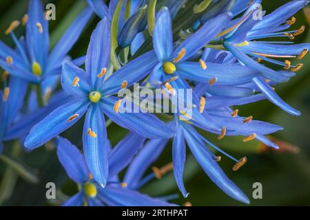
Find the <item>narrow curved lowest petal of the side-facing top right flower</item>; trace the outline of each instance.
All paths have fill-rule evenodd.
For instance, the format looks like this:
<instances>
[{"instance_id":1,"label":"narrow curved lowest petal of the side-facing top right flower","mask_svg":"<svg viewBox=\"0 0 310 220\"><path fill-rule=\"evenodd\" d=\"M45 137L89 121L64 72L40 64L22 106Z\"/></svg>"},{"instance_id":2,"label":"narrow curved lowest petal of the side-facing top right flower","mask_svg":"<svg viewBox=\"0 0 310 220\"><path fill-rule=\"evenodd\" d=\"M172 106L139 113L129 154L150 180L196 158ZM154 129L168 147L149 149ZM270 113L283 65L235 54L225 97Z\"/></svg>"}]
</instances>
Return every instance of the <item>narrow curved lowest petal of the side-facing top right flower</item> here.
<instances>
[{"instance_id":1,"label":"narrow curved lowest petal of the side-facing top right flower","mask_svg":"<svg viewBox=\"0 0 310 220\"><path fill-rule=\"evenodd\" d=\"M293 109L293 107L289 106L286 102L284 102L273 89L268 85L268 83L265 82L265 80L262 80L260 78L254 78L253 82L255 85L260 89L260 91L267 96L267 98L273 103L276 104L276 106L280 107L287 113L290 113L292 115L300 115L300 111Z\"/></svg>"}]
</instances>

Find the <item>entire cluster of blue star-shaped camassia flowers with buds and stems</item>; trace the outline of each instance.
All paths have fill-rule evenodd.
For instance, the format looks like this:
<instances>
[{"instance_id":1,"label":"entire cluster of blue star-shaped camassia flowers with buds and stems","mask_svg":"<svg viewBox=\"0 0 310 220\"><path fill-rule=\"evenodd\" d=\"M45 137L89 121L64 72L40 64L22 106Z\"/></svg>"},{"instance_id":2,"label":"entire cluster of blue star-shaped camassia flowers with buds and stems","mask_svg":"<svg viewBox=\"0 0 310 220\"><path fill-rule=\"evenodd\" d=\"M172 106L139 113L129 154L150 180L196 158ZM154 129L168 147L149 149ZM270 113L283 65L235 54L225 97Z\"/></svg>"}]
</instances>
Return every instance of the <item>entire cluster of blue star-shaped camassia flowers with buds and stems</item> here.
<instances>
[{"instance_id":1,"label":"entire cluster of blue star-shaped camassia flowers with buds and stems","mask_svg":"<svg viewBox=\"0 0 310 220\"><path fill-rule=\"evenodd\" d=\"M205 0L190 8L194 16L181 24L178 14L191 7L189 1L87 3L52 49L46 19L50 12L43 11L40 0L30 0L28 14L6 30L15 48L0 41L4 69L0 152L3 142L10 140L20 140L28 150L52 142L59 162L79 186L65 206L171 206L165 198L152 198L138 189L173 170L181 194L187 197L183 173L188 146L211 181L230 197L249 203L220 168L216 153L232 159L233 170L247 158L232 157L200 131L218 135L218 140L240 135L244 142L256 139L278 148L267 135L282 127L238 115L236 106L267 99L287 113L300 115L273 87L302 68L302 63L289 59L302 60L310 44L290 40L305 27L288 29L296 21L293 14L309 1L289 1L265 15L258 11L260 0ZM101 20L92 31L87 53L71 58L68 54L93 12ZM257 13L262 17L258 19ZM25 26L25 37L18 39L14 30L20 24ZM275 37L289 41L267 40ZM283 70L273 70L269 63ZM185 91L181 100L191 113L178 107L165 117L121 111L126 108L125 98L119 98L118 92L136 83L161 89L172 103ZM192 96L191 103L187 95ZM132 104L131 108L137 105ZM84 120L83 131L76 138L82 137L83 154L59 136L79 120ZM130 131L114 147L107 137L115 132L108 129L112 122ZM153 168L154 173L144 177L169 140L172 163ZM121 181L118 174L126 167Z\"/></svg>"}]
</instances>

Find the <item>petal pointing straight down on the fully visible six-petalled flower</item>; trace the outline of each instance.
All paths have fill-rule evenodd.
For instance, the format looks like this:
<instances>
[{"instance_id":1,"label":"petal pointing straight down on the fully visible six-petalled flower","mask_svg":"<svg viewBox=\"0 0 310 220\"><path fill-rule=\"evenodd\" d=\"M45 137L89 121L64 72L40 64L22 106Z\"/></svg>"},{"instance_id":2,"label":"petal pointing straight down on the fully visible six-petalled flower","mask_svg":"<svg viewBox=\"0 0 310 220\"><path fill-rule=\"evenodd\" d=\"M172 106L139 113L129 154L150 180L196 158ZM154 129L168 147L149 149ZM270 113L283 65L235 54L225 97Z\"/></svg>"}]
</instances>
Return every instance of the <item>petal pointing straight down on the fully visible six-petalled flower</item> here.
<instances>
[{"instance_id":1,"label":"petal pointing straight down on the fully visible six-petalled flower","mask_svg":"<svg viewBox=\"0 0 310 220\"><path fill-rule=\"evenodd\" d=\"M88 131L96 133L96 137ZM107 130L105 118L98 104L92 104L87 111L83 129L83 148L85 161L94 179L104 187L107 184L109 167L107 162Z\"/></svg>"}]
</instances>

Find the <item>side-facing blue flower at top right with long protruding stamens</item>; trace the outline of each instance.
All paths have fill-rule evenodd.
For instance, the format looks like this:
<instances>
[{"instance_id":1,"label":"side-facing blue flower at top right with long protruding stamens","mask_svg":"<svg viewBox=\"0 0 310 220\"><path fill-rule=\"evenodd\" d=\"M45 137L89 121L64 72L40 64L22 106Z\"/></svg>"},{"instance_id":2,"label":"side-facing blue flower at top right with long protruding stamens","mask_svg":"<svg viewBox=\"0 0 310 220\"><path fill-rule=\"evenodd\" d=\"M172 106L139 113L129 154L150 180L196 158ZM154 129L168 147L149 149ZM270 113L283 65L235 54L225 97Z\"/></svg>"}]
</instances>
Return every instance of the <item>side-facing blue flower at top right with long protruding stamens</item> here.
<instances>
[{"instance_id":1,"label":"side-facing blue flower at top right with long protruding stamens","mask_svg":"<svg viewBox=\"0 0 310 220\"><path fill-rule=\"evenodd\" d=\"M256 3L260 2L256 1ZM256 18L254 13L257 8L253 6L240 19L235 20L232 28L228 28L218 35L219 37L225 35L223 46L234 54L241 63L261 73L261 76L254 77L252 80L257 89L265 94L273 104L293 115L300 115L300 111L285 103L273 91L270 84L289 80L294 75L293 72L297 72L302 67L302 63L294 65L289 61L289 58L301 60L307 54L310 44L293 44L291 41L264 41L261 39L274 37L294 39L295 36L304 32L304 26L298 30L285 30L296 21L295 17L291 16L308 3L309 1L289 1L262 19ZM277 58L282 61L276 60ZM260 61L281 65L285 71L276 72L260 64Z\"/></svg>"}]
</instances>

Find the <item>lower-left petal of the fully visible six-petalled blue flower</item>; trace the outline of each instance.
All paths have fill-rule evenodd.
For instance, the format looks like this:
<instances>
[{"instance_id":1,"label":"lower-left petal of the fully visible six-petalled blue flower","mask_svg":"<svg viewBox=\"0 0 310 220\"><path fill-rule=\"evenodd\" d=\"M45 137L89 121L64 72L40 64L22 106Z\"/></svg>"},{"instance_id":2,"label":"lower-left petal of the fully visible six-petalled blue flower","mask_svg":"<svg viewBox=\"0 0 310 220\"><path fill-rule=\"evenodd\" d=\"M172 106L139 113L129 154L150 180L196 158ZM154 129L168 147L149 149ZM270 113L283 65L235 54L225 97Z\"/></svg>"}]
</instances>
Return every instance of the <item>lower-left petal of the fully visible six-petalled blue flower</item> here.
<instances>
[{"instance_id":1,"label":"lower-left petal of the fully visible six-petalled blue flower","mask_svg":"<svg viewBox=\"0 0 310 220\"><path fill-rule=\"evenodd\" d=\"M88 104L85 100L71 100L52 111L41 122L33 126L26 137L25 147L30 149L37 148L70 128L83 116L88 108ZM68 122L68 119L74 114L78 114L78 118Z\"/></svg>"}]
</instances>

